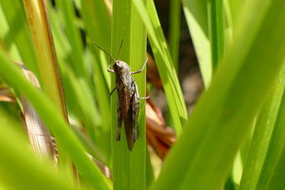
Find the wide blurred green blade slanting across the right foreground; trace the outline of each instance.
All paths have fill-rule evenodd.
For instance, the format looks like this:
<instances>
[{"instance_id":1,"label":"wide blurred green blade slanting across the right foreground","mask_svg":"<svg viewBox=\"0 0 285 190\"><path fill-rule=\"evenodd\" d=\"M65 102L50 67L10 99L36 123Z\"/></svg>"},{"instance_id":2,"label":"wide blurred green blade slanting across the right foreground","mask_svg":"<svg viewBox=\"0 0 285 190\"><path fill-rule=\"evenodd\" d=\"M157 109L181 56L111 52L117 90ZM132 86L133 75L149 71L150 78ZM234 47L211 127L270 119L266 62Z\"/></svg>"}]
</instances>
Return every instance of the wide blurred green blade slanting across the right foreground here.
<instances>
[{"instance_id":1,"label":"wide blurred green blade slanting across the right foreground","mask_svg":"<svg viewBox=\"0 0 285 190\"><path fill-rule=\"evenodd\" d=\"M254 11L257 6L259 11ZM237 40L151 189L220 189L227 179L239 145L284 63L285 20L279 13L285 11L285 1L247 1L243 11ZM245 14L249 12L250 17Z\"/></svg>"}]
</instances>

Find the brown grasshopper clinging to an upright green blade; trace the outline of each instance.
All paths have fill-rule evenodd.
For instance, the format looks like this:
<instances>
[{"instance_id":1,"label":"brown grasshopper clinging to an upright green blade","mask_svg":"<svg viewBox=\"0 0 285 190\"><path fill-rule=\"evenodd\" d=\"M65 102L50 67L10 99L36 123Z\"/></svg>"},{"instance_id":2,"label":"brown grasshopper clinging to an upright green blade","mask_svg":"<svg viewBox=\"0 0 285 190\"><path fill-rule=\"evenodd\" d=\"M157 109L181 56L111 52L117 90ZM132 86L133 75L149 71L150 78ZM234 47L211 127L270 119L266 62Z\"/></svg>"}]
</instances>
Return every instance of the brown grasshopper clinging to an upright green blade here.
<instances>
[{"instance_id":1,"label":"brown grasshopper clinging to an upright green blade","mask_svg":"<svg viewBox=\"0 0 285 190\"><path fill-rule=\"evenodd\" d=\"M140 97L138 94L138 86L133 79L133 74L142 73L147 63L147 58L142 68L137 71L130 71L130 67L123 60L115 60L110 54L103 48L93 42L95 46L100 48L110 57L110 64L108 65L108 72L115 73L115 88L110 92L112 95L115 90L118 93L118 106L117 106L117 117L118 117L118 131L116 140L120 141L120 131L122 127L122 121L125 126L125 136L127 137L128 149L131 151L135 144L135 141L139 136L138 129L138 115L140 112L140 100L146 100L148 97ZM120 43L118 56L120 55L120 49L123 41ZM110 69L110 65L114 61L113 70Z\"/></svg>"}]
</instances>

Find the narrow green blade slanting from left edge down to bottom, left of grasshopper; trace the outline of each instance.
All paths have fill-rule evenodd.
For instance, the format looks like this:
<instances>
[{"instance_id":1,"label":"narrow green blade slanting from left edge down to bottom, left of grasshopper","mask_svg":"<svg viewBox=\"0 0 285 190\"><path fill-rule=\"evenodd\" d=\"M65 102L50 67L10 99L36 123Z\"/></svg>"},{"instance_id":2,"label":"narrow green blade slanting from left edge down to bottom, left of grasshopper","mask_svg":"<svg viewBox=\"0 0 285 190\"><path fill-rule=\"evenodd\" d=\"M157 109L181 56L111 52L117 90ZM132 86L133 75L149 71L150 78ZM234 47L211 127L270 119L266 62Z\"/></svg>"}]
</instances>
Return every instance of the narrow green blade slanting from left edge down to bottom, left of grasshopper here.
<instances>
[{"instance_id":1,"label":"narrow green blade slanting from left edge down to bottom, left of grasshopper","mask_svg":"<svg viewBox=\"0 0 285 190\"><path fill-rule=\"evenodd\" d=\"M105 176L100 173L95 164L87 157L83 146L77 137L68 127L60 112L50 100L43 95L41 91L34 88L16 68L14 63L6 57L3 51L0 51L1 69L0 75L7 82L19 91L31 102L35 107L38 115L52 134L56 137L58 145L65 149L66 153L71 157L78 171L88 180L89 184L97 189L109 189Z\"/></svg>"}]
</instances>

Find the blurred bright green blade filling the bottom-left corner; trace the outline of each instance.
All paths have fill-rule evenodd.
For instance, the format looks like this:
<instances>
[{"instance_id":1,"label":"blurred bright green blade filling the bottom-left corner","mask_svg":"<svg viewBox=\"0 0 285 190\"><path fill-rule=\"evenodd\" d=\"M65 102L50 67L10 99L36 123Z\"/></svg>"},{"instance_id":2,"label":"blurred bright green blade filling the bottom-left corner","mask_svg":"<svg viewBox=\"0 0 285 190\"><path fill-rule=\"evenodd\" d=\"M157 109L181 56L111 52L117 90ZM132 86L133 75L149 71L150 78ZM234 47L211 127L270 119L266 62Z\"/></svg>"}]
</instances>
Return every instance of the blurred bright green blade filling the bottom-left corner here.
<instances>
[{"instance_id":1,"label":"blurred bright green blade filling the bottom-left corner","mask_svg":"<svg viewBox=\"0 0 285 190\"><path fill-rule=\"evenodd\" d=\"M48 160L39 160L28 147L23 133L16 131L13 118L0 109L0 176L9 189L76 189Z\"/></svg>"}]
</instances>

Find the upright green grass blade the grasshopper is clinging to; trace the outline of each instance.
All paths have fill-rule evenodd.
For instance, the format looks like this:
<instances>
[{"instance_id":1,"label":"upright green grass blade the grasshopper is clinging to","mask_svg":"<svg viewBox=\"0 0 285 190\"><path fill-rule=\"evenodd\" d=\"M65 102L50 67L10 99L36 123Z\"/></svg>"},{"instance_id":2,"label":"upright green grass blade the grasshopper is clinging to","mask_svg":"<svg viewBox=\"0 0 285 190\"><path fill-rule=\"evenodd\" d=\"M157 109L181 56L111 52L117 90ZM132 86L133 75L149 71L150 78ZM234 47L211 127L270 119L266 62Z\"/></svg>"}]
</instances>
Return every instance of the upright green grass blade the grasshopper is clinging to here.
<instances>
[{"instance_id":1,"label":"upright green grass blade the grasshopper is clinging to","mask_svg":"<svg viewBox=\"0 0 285 190\"><path fill-rule=\"evenodd\" d=\"M146 1L144 1L146 2ZM138 11L130 0L113 1L112 55L117 58L122 40L120 60L130 64L131 70L142 68L146 58L146 30ZM145 70L133 75L138 84L140 97L145 97ZM115 75L112 74L114 87ZM140 136L133 151L128 150L125 129L121 132L120 142L115 141L117 134L117 95L111 97L112 152L114 189L145 189L145 100L140 100L138 125Z\"/></svg>"}]
</instances>

